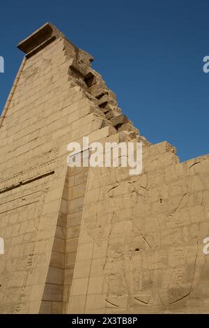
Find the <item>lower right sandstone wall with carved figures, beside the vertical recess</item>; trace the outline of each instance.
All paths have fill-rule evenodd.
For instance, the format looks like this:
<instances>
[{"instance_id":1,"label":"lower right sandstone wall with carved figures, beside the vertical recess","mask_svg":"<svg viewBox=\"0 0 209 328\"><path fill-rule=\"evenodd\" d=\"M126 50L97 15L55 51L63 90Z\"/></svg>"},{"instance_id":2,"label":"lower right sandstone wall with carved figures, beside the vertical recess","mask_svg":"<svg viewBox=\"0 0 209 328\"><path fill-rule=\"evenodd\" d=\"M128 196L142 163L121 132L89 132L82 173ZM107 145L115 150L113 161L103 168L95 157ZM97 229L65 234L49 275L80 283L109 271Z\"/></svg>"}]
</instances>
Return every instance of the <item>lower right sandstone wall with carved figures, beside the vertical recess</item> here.
<instances>
[{"instance_id":1,"label":"lower right sandstone wall with carved figures, beside the vertical recess","mask_svg":"<svg viewBox=\"0 0 209 328\"><path fill-rule=\"evenodd\" d=\"M90 169L68 313L209 312L209 156L174 153L145 148L138 177Z\"/></svg>"}]
</instances>

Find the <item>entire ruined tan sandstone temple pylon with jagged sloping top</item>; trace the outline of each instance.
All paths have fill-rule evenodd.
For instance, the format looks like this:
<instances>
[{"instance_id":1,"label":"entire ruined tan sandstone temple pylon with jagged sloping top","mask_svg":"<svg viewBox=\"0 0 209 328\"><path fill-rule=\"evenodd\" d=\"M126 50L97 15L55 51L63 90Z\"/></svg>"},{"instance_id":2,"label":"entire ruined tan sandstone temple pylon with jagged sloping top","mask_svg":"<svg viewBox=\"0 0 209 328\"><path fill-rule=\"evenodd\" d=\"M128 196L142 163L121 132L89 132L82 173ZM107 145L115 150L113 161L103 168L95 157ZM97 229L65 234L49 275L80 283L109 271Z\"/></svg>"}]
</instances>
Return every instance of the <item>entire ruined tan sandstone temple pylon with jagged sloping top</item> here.
<instances>
[{"instance_id":1,"label":"entire ruined tan sandstone temple pylon with jagged sloping top","mask_svg":"<svg viewBox=\"0 0 209 328\"><path fill-rule=\"evenodd\" d=\"M150 144L47 23L0 119L0 313L209 313L209 156ZM68 167L67 145L142 142L143 171Z\"/></svg>"}]
</instances>

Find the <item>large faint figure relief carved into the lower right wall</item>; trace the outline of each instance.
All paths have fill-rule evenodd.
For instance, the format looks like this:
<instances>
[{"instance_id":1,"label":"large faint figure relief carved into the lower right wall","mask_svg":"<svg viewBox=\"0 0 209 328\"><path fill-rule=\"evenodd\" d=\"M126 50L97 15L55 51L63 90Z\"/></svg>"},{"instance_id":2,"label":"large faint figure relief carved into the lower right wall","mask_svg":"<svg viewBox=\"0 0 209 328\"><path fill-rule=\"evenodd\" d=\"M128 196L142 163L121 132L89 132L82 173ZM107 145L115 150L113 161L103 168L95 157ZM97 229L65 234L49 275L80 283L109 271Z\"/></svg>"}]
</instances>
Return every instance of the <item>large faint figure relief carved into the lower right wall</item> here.
<instances>
[{"instance_id":1,"label":"large faint figure relief carved into the lower right wall","mask_svg":"<svg viewBox=\"0 0 209 328\"><path fill-rule=\"evenodd\" d=\"M122 167L91 174L91 188L95 185L100 197L95 215L90 218L86 214L84 227L94 241L94 250L107 250L102 283L106 306L167 307L187 300L200 281L206 259L199 256L200 234L190 233L192 217L185 218L192 197L185 193L185 186L171 184L168 190L178 197L165 200L148 174L132 178ZM162 188L165 193L167 186ZM199 223L202 220L196 218Z\"/></svg>"}]
</instances>

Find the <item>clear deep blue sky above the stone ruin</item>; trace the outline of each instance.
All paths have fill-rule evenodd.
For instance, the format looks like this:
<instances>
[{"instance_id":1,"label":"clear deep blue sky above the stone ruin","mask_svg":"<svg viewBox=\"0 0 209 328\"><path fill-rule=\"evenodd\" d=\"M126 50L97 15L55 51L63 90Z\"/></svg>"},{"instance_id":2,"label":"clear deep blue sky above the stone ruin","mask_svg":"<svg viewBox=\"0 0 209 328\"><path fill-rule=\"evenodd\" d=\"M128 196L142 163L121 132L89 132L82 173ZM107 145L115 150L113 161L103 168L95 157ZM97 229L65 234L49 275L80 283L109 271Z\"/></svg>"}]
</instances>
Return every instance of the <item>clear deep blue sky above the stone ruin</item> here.
<instances>
[{"instance_id":1,"label":"clear deep blue sky above the stone ruin","mask_svg":"<svg viewBox=\"0 0 209 328\"><path fill-rule=\"evenodd\" d=\"M176 146L180 161L208 154L209 1L7 0L0 12L0 112L23 58L17 43L52 22L95 57L142 135Z\"/></svg>"}]
</instances>

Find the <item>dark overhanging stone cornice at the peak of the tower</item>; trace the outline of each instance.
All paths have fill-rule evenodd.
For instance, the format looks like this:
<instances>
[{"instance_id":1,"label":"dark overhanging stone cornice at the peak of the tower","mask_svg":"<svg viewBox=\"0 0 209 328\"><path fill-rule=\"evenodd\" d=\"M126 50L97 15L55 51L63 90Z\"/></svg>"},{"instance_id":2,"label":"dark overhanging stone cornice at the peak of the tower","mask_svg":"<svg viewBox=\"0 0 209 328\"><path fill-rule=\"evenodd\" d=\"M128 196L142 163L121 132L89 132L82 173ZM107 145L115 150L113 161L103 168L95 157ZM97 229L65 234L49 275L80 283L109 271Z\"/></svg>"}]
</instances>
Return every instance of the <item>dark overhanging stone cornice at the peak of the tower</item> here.
<instances>
[{"instance_id":1,"label":"dark overhanging stone cornice at the peak of the tower","mask_svg":"<svg viewBox=\"0 0 209 328\"><path fill-rule=\"evenodd\" d=\"M45 23L33 32L28 38L25 38L17 45L17 48L22 50L25 54L30 54L34 50L38 49L38 47L43 47L47 43L55 40L56 38L63 37L65 35L59 31L52 23Z\"/></svg>"}]
</instances>

